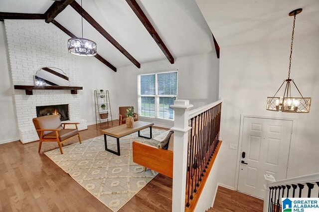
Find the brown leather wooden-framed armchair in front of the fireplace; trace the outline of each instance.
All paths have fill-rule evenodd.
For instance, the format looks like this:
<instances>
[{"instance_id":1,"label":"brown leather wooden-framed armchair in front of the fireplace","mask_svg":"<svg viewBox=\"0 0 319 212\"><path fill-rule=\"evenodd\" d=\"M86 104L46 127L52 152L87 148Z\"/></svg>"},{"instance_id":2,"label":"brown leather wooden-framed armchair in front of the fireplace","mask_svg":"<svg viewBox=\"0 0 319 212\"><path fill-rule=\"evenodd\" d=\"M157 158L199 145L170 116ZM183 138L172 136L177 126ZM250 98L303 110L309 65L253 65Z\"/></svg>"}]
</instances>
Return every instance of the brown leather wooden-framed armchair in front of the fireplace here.
<instances>
[{"instance_id":1,"label":"brown leather wooden-framed armchair in front of the fireplace","mask_svg":"<svg viewBox=\"0 0 319 212\"><path fill-rule=\"evenodd\" d=\"M40 139L38 152L40 152L44 141L58 142L61 154L63 154L61 144L72 137L78 136L81 143L77 126L80 123L61 123L58 115L42 116L34 118L32 121ZM75 125L75 129L65 129L65 125Z\"/></svg>"}]
</instances>

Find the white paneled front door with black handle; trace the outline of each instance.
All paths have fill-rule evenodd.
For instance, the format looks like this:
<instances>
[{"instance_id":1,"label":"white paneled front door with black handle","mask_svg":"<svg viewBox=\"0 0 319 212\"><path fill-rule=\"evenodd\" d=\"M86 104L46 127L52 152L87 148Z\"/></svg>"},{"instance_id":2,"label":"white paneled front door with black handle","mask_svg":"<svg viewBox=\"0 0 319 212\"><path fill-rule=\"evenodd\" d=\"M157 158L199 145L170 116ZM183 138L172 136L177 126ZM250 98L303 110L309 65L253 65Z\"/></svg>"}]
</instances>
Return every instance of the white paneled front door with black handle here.
<instances>
[{"instance_id":1,"label":"white paneled front door with black handle","mask_svg":"<svg viewBox=\"0 0 319 212\"><path fill-rule=\"evenodd\" d=\"M238 191L264 199L264 174L286 179L292 124L244 117Z\"/></svg>"}]
</instances>

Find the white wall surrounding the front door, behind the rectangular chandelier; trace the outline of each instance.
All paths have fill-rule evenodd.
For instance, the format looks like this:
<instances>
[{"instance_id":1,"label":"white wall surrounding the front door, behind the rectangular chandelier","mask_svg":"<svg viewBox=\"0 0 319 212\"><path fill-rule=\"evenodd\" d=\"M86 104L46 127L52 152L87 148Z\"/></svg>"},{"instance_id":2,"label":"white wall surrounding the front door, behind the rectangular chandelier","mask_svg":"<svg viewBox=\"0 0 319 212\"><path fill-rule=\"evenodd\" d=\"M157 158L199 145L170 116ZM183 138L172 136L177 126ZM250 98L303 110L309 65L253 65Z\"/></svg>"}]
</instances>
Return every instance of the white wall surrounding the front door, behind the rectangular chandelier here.
<instances>
[{"instance_id":1,"label":"white wall surrounding the front door, behind the rectangular chandelier","mask_svg":"<svg viewBox=\"0 0 319 212\"><path fill-rule=\"evenodd\" d=\"M304 96L313 97L309 114L266 110L267 96L275 94L288 74L290 39L221 48L219 96L222 107L220 183L235 185L240 114L298 119L295 146L287 177L319 172L319 34L295 34L291 77ZM281 93L281 95L283 95ZM292 144L294 141L292 141ZM238 146L238 151L240 151Z\"/></svg>"}]
</instances>

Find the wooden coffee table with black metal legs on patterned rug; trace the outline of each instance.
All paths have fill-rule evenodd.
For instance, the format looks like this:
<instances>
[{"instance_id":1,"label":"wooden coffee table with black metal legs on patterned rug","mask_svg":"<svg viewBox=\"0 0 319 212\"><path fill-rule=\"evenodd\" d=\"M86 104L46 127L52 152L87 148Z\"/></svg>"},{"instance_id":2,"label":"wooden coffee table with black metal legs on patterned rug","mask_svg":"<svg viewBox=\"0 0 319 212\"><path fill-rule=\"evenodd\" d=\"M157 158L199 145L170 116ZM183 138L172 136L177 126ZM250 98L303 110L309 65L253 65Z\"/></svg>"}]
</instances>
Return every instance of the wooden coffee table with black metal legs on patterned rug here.
<instances>
[{"instance_id":1,"label":"wooden coffee table with black metal legs on patterned rug","mask_svg":"<svg viewBox=\"0 0 319 212\"><path fill-rule=\"evenodd\" d=\"M154 125L154 123L136 121L136 122L134 122L134 127L133 128L128 128L126 125L121 125L121 126L118 126L118 127L113 127L113 128L109 128L109 129L106 129L106 130L102 130L102 133L104 134L105 150L109 151L109 152L112 152L114 154L117 154L117 155L121 155L120 154L120 138L122 138L124 136L127 136L127 135L130 135L132 133L136 133L136 132L139 132L139 137L146 138L146 139L152 139L152 126L153 125ZM144 130L146 128L150 128L150 138L140 135L140 131ZM114 151L112 149L108 149L106 136L110 136L110 137L116 138L118 151Z\"/></svg>"}]
</instances>

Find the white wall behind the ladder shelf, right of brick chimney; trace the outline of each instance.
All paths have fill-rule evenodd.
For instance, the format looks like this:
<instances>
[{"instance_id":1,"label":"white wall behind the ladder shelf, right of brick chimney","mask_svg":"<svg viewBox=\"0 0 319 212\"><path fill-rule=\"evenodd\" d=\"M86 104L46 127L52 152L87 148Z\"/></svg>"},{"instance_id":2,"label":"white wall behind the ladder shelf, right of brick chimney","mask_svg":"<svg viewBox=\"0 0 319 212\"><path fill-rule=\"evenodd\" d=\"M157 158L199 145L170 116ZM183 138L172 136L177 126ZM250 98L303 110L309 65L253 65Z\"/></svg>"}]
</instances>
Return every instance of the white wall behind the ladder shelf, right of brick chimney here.
<instances>
[{"instance_id":1,"label":"white wall behind the ladder shelf, right of brick chimney","mask_svg":"<svg viewBox=\"0 0 319 212\"><path fill-rule=\"evenodd\" d=\"M94 57L82 57L79 62L80 86L80 106L81 117L87 120L88 125L95 124L94 90L109 90L113 120L118 119L116 109L117 86L123 86L115 79L118 72L112 71ZM110 114L109 114L110 115Z\"/></svg>"}]
</instances>

